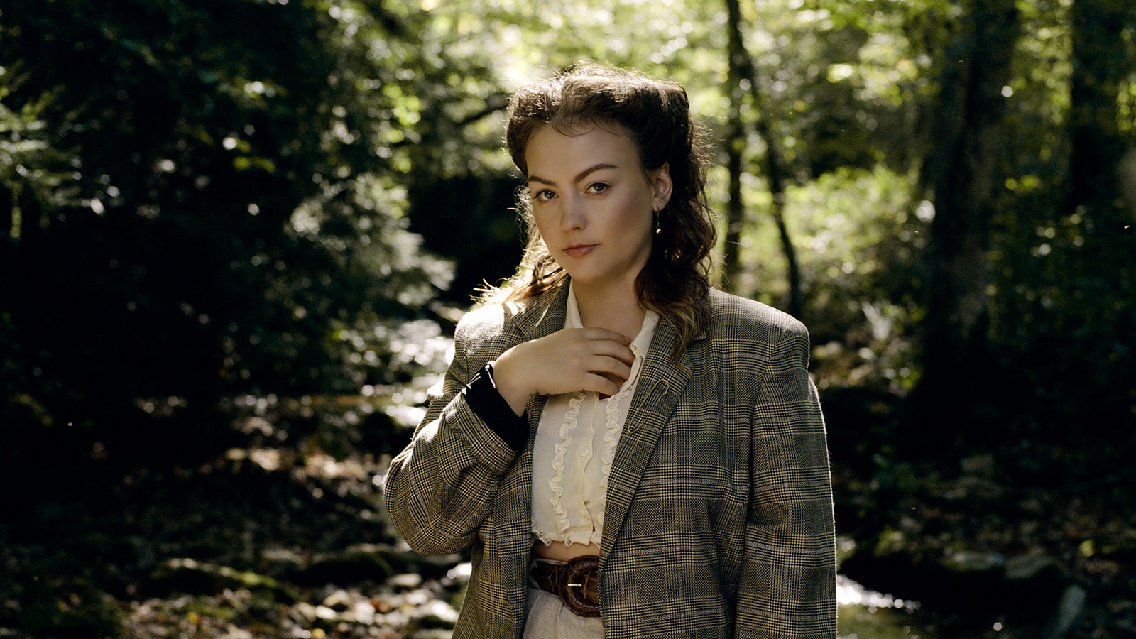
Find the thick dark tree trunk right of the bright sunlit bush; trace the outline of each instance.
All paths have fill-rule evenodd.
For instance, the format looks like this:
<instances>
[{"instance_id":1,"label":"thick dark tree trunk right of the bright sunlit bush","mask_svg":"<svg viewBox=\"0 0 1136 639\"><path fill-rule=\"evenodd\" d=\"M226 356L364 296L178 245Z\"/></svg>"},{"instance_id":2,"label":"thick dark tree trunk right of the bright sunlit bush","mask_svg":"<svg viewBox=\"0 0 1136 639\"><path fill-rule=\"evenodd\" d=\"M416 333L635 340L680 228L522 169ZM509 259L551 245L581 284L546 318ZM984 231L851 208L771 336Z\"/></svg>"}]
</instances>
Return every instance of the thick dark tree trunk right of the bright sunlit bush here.
<instances>
[{"instance_id":1,"label":"thick dark tree trunk right of the bright sunlit bush","mask_svg":"<svg viewBox=\"0 0 1136 639\"><path fill-rule=\"evenodd\" d=\"M971 0L949 56L924 165L935 218L927 248L921 404L937 425L959 432L982 387L987 320L989 200L1014 45L1014 0ZM957 60L957 63L955 63ZM934 430L934 429L928 429Z\"/></svg>"}]
</instances>

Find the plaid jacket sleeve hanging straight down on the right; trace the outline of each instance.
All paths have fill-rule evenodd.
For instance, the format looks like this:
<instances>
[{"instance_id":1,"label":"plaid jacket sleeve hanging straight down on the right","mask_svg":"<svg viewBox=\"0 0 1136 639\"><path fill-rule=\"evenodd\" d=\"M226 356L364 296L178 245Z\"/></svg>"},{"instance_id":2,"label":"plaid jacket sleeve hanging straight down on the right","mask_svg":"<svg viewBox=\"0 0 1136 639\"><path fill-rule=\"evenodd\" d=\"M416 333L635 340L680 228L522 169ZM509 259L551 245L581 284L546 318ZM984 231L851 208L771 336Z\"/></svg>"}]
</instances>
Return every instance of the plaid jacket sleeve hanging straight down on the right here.
<instances>
[{"instance_id":1,"label":"plaid jacket sleeve hanging straight down on the right","mask_svg":"<svg viewBox=\"0 0 1136 639\"><path fill-rule=\"evenodd\" d=\"M808 358L809 334L794 321L772 346L753 407L738 638L836 637L832 480Z\"/></svg>"}]
</instances>

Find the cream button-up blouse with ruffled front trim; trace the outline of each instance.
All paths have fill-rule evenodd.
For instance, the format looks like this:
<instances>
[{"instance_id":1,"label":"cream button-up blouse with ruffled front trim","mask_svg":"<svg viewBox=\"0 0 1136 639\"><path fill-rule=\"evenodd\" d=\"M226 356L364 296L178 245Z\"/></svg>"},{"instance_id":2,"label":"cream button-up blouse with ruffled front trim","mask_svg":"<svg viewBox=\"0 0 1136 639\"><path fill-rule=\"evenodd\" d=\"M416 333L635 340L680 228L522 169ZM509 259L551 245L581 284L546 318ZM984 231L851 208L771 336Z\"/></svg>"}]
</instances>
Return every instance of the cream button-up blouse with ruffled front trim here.
<instances>
[{"instance_id":1,"label":"cream button-up blouse with ruffled front trim","mask_svg":"<svg viewBox=\"0 0 1136 639\"><path fill-rule=\"evenodd\" d=\"M566 329L582 329L576 292L568 290ZM646 312L632 341L630 376L619 392L600 399L592 391L550 396L533 448L533 533L544 543L599 545L616 445L651 346L659 315Z\"/></svg>"}]
</instances>

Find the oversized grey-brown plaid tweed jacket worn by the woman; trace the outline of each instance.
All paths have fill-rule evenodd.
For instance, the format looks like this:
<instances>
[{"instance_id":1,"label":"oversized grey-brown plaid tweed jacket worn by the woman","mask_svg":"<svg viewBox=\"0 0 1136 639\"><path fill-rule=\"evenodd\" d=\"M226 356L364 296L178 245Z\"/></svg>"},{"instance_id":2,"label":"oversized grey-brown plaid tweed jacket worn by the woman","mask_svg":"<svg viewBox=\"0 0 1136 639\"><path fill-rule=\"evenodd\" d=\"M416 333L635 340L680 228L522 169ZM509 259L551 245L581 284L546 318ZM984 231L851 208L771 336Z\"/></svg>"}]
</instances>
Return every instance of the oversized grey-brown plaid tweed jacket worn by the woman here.
<instances>
[{"instance_id":1,"label":"oversized grey-brown plaid tweed jacket worn by the woman","mask_svg":"<svg viewBox=\"0 0 1136 639\"><path fill-rule=\"evenodd\" d=\"M533 440L507 446L461 389L504 350L565 325L568 287L458 325L441 393L391 464L384 499L423 554L473 555L454 638L520 638L533 545ZM825 425L791 316L711 291L709 322L671 360L655 330L616 449L600 546L607 639L836 636Z\"/></svg>"}]
</instances>

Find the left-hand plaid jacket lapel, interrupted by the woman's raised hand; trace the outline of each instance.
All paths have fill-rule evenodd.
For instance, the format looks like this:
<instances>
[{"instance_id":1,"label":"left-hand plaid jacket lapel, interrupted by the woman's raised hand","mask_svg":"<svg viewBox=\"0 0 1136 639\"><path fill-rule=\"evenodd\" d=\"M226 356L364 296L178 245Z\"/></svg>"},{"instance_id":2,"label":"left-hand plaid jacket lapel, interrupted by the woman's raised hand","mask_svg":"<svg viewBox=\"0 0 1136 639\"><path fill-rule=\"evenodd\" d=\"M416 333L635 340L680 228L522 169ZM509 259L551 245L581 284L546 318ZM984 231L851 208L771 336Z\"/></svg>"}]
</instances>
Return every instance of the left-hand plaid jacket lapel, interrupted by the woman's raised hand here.
<instances>
[{"instance_id":1,"label":"left-hand plaid jacket lapel, interrupted by the woman's raised hand","mask_svg":"<svg viewBox=\"0 0 1136 639\"><path fill-rule=\"evenodd\" d=\"M516 343L543 338L565 327L568 284L532 300L507 324L519 333ZM541 423L545 397L528 400L528 442L501 481L494 501L493 523L496 530L498 557L502 576L509 582L509 607L515 628L525 621L525 599L528 595L528 563L533 548L533 442Z\"/></svg>"}]
</instances>

